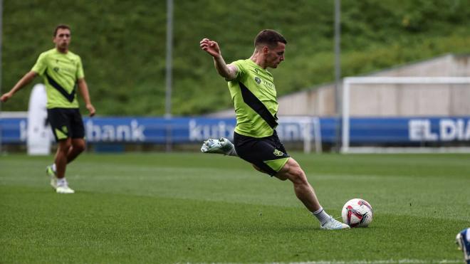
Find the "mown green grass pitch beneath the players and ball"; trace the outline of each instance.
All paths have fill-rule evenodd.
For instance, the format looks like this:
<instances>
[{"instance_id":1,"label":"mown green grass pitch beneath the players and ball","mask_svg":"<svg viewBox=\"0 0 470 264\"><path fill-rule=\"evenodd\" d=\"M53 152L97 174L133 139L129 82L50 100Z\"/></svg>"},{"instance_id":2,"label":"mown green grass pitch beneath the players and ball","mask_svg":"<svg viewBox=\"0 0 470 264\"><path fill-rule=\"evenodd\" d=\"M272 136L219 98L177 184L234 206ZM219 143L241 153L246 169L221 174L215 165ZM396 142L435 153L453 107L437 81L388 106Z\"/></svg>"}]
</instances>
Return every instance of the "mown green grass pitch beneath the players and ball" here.
<instances>
[{"instance_id":1,"label":"mown green grass pitch beneath the players and ball","mask_svg":"<svg viewBox=\"0 0 470 264\"><path fill-rule=\"evenodd\" d=\"M368 228L320 230L288 181L217 154L83 154L55 194L52 157L0 156L0 263L463 263L469 154L301 154L323 207L372 204Z\"/></svg>"}]
</instances>

